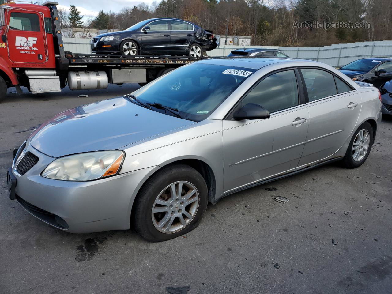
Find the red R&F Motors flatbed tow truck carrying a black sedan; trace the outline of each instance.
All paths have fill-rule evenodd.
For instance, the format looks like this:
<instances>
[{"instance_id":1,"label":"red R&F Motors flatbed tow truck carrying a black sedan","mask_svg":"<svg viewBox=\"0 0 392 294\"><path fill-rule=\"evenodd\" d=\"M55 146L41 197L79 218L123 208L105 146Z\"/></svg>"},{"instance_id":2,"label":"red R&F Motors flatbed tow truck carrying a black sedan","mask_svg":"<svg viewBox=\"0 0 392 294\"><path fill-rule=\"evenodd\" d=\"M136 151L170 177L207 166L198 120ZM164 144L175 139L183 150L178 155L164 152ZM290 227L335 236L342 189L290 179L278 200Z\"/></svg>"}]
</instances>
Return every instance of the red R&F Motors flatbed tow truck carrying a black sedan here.
<instances>
[{"instance_id":1,"label":"red R&F Motors flatbed tow truck carrying a black sedan","mask_svg":"<svg viewBox=\"0 0 392 294\"><path fill-rule=\"evenodd\" d=\"M7 88L31 93L148 83L203 57L74 54L64 50L57 2L0 5L0 101Z\"/></svg>"}]
</instances>

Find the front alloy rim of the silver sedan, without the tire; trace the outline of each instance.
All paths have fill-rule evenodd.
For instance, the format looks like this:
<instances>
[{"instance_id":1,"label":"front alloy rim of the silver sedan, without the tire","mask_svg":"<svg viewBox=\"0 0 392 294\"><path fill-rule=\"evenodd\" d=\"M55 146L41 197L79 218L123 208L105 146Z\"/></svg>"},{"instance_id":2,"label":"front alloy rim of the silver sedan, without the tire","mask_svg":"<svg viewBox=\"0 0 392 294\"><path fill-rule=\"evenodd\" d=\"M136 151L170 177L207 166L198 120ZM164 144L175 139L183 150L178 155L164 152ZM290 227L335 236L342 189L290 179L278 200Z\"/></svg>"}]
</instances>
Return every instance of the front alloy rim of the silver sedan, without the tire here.
<instances>
[{"instance_id":1,"label":"front alloy rim of the silver sedan, without the tire","mask_svg":"<svg viewBox=\"0 0 392 294\"><path fill-rule=\"evenodd\" d=\"M152 223L163 233L185 228L199 208L199 192L188 181L171 183L158 195L152 205Z\"/></svg>"}]
</instances>

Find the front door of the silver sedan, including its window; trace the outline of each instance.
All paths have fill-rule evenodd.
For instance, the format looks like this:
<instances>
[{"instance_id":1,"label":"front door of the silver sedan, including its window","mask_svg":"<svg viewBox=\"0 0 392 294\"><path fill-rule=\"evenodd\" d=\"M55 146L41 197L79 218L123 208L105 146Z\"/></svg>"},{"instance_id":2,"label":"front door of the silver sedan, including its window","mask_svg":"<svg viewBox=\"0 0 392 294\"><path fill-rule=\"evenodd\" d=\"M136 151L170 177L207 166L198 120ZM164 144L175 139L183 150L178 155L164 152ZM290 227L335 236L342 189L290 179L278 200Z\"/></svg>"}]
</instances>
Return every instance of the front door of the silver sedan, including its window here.
<instances>
[{"instance_id":1,"label":"front door of the silver sedan, including its window","mask_svg":"<svg viewBox=\"0 0 392 294\"><path fill-rule=\"evenodd\" d=\"M256 103L270 112L270 118L223 121L225 192L297 167L309 120L299 93L294 70L271 74L236 107Z\"/></svg>"}]
</instances>

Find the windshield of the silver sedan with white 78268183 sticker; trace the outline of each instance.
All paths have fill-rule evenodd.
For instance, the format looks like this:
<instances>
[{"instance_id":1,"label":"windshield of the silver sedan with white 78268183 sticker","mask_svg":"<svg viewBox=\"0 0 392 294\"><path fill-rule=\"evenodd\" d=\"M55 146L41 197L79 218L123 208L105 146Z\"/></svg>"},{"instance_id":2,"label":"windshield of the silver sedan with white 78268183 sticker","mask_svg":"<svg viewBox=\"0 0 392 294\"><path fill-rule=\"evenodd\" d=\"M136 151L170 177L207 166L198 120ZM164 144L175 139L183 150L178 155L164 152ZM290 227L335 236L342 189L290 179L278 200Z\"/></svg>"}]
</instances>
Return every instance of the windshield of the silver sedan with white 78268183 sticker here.
<instances>
[{"instance_id":1,"label":"windshield of the silver sedan with white 78268183 sticker","mask_svg":"<svg viewBox=\"0 0 392 294\"><path fill-rule=\"evenodd\" d=\"M132 94L144 103L160 103L172 107L183 117L200 122L254 71L196 62L181 66ZM165 113L171 115L170 112Z\"/></svg>"}]
</instances>

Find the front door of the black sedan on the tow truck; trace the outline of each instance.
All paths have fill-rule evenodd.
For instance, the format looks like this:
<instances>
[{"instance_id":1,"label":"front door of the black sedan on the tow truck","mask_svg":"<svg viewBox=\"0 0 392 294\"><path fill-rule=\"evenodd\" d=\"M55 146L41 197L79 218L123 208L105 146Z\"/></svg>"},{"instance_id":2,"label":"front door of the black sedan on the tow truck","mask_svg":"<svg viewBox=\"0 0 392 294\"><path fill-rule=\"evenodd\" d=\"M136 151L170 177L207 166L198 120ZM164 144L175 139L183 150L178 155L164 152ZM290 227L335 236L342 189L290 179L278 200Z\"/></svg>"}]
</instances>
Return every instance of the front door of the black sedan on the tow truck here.
<instances>
[{"instance_id":1,"label":"front door of the black sedan on the tow truck","mask_svg":"<svg viewBox=\"0 0 392 294\"><path fill-rule=\"evenodd\" d=\"M142 28L142 43L144 52L170 52L169 20L154 20Z\"/></svg>"}]
</instances>

